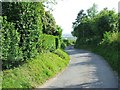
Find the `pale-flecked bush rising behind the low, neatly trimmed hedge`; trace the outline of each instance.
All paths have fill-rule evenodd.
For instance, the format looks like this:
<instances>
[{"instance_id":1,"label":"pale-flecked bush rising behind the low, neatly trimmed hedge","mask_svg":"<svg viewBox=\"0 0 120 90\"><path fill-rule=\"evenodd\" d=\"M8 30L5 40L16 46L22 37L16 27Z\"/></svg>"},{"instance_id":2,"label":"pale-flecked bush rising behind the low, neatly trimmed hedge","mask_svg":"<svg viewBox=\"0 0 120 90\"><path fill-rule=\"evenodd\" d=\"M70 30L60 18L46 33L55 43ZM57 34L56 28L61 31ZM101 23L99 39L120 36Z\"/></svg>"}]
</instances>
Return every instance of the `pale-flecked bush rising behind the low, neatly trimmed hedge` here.
<instances>
[{"instance_id":1,"label":"pale-flecked bush rising behind the low, neatly trimmed hedge","mask_svg":"<svg viewBox=\"0 0 120 90\"><path fill-rule=\"evenodd\" d=\"M60 26L56 25L55 19L50 11L46 11L44 16L42 17L43 21L43 30L44 34L59 36L61 38L62 29Z\"/></svg>"}]
</instances>

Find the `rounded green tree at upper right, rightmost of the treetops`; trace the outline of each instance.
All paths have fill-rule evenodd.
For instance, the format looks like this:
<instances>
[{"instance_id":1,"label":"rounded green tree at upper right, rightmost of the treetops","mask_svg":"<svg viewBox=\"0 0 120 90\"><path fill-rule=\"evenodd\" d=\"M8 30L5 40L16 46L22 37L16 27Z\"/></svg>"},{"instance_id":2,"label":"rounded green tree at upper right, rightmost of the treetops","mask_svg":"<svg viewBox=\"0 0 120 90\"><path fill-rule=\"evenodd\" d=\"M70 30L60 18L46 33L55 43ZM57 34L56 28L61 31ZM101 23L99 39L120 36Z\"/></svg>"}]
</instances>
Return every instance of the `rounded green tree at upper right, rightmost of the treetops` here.
<instances>
[{"instance_id":1,"label":"rounded green tree at upper right, rightmost of the treetops","mask_svg":"<svg viewBox=\"0 0 120 90\"><path fill-rule=\"evenodd\" d=\"M96 25L98 34L103 37L104 32L117 30L118 15L114 10L104 8L96 17Z\"/></svg>"}]
</instances>

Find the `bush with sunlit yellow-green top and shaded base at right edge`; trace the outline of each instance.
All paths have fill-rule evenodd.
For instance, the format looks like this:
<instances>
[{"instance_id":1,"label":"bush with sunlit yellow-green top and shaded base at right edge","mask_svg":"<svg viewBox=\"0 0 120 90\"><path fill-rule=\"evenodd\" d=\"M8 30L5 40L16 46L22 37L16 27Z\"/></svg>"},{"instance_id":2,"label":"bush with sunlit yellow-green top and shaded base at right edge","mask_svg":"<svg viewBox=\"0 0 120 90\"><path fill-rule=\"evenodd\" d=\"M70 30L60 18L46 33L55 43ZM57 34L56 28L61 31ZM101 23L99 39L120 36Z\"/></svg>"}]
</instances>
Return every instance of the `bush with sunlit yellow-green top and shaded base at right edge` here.
<instances>
[{"instance_id":1,"label":"bush with sunlit yellow-green top and shaded base at right edge","mask_svg":"<svg viewBox=\"0 0 120 90\"><path fill-rule=\"evenodd\" d=\"M120 75L120 50L118 48L120 45L120 32L106 32L100 44L101 48L98 51L102 51L100 54L106 58L112 68Z\"/></svg>"}]
</instances>

